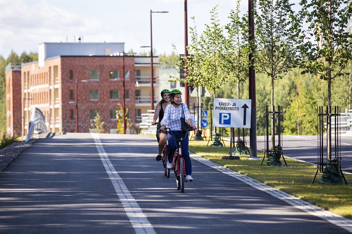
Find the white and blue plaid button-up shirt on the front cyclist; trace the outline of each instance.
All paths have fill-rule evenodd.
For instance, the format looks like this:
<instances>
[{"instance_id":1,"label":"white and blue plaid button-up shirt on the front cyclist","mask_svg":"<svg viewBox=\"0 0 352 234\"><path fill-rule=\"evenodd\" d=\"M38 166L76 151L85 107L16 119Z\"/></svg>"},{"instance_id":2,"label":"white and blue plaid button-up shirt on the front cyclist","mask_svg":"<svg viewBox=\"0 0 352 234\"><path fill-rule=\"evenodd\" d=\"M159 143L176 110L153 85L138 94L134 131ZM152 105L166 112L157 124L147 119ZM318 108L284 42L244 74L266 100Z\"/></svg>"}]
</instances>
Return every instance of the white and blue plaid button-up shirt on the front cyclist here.
<instances>
[{"instance_id":1,"label":"white and blue plaid button-up shirt on the front cyclist","mask_svg":"<svg viewBox=\"0 0 352 234\"><path fill-rule=\"evenodd\" d=\"M183 107L183 112L182 112ZM161 120L161 125L166 125L172 131L181 131L181 117L185 117L186 122L188 119L192 120L193 125L195 124L194 119L189 113L186 103L181 103L178 108L175 108L173 104L167 105L165 108L164 118Z\"/></svg>"}]
</instances>

